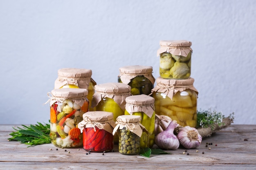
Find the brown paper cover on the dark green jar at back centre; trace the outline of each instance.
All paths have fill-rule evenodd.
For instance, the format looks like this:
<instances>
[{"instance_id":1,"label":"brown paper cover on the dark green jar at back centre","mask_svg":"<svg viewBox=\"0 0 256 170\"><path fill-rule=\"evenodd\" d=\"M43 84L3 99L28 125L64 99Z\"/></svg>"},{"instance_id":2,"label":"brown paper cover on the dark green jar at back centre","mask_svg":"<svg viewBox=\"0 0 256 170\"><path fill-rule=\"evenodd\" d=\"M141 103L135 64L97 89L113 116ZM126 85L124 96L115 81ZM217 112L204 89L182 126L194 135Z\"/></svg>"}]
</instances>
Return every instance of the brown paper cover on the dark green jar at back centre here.
<instances>
[{"instance_id":1,"label":"brown paper cover on the dark green jar at back centre","mask_svg":"<svg viewBox=\"0 0 256 170\"><path fill-rule=\"evenodd\" d=\"M152 84L155 83L155 77L152 75L153 67L152 66L124 66L119 68L119 75L121 81L125 84L129 84L130 80L135 78L137 75L144 75L147 79L150 80Z\"/></svg>"}]
</instances>

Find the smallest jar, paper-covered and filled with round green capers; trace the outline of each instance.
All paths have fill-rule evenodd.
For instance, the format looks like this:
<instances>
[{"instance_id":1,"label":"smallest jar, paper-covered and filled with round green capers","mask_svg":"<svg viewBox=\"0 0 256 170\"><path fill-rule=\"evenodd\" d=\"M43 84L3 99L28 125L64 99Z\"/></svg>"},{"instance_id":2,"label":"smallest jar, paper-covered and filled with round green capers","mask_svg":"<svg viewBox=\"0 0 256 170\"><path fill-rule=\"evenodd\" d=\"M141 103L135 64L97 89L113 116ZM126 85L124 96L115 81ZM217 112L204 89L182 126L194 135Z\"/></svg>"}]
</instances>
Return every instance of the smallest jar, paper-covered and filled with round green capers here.
<instances>
[{"instance_id":1,"label":"smallest jar, paper-covered and filled with round green capers","mask_svg":"<svg viewBox=\"0 0 256 170\"><path fill-rule=\"evenodd\" d=\"M137 155L140 152L140 137L144 126L139 122L140 116L121 115L117 117L117 126L113 130L113 135L117 132L119 137L118 150L123 155Z\"/></svg>"}]
</instances>

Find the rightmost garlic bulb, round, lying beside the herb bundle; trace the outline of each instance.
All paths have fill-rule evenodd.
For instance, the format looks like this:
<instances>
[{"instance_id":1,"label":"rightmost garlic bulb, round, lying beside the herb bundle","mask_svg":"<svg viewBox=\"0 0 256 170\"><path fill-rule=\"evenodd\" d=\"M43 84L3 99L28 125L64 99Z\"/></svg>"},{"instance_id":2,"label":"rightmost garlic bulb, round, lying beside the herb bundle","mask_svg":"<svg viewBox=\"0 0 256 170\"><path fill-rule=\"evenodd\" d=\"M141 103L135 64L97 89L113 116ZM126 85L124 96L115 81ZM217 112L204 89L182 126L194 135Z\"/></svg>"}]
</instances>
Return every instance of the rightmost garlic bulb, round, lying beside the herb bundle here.
<instances>
[{"instance_id":1,"label":"rightmost garlic bulb, round, lying beside the herb bundle","mask_svg":"<svg viewBox=\"0 0 256 170\"><path fill-rule=\"evenodd\" d=\"M199 134L198 130L190 126L180 128L177 137L180 144L186 149L196 148L200 146L202 142L202 136Z\"/></svg>"}]
</instances>

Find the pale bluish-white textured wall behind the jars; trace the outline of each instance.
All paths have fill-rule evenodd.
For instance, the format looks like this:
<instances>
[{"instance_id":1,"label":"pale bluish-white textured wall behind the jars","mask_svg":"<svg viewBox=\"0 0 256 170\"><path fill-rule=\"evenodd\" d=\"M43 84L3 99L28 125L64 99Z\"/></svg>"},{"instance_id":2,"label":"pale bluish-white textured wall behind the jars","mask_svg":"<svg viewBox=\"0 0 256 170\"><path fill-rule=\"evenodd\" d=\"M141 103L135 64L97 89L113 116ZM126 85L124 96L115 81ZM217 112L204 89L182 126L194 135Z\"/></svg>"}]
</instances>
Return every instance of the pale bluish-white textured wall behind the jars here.
<instances>
[{"instance_id":1,"label":"pale bluish-white textured wall behind the jars","mask_svg":"<svg viewBox=\"0 0 256 170\"><path fill-rule=\"evenodd\" d=\"M97 84L119 67L153 66L159 40L192 42L198 109L256 123L254 0L0 0L0 124L47 122L59 68Z\"/></svg>"}]
</instances>

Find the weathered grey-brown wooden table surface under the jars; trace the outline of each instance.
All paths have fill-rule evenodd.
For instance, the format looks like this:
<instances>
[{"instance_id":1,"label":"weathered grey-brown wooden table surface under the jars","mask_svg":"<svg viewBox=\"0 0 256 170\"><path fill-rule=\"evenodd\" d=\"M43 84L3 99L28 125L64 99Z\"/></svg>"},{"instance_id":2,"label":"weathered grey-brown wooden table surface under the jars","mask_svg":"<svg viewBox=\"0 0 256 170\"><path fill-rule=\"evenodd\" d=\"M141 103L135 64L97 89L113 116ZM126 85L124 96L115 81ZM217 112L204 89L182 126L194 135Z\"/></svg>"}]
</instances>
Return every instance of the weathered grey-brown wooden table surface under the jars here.
<instances>
[{"instance_id":1,"label":"weathered grey-brown wooden table surface under the jars","mask_svg":"<svg viewBox=\"0 0 256 170\"><path fill-rule=\"evenodd\" d=\"M83 148L65 152L62 148L56 150L52 144L27 147L17 141L7 141L12 127L16 126L0 125L0 170L256 170L256 125L231 125L222 129L203 139L198 148L187 150L189 155L183 154L184 148L179 148L167 151L172 155L150 155L149 158L121 155L117 146L115 152L105 155L94 152L86 155ZM212 145L206 147L207 142Z\"/></svg>"}]
</instances>

